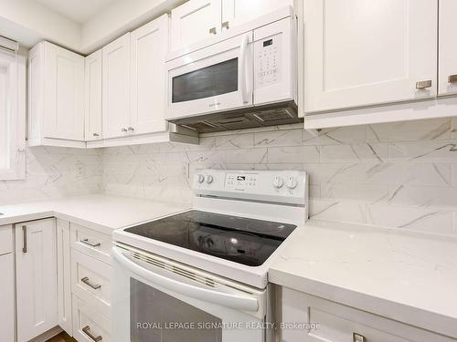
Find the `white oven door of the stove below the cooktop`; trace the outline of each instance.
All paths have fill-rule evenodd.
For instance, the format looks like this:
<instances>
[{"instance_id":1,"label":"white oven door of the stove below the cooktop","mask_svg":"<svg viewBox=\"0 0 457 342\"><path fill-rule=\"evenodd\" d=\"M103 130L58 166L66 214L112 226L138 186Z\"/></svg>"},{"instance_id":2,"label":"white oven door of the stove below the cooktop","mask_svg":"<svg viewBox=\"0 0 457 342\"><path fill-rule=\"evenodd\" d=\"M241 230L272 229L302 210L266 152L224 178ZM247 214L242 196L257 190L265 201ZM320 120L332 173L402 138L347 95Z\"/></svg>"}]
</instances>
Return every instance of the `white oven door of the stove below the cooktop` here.
<instances>
[{"instance_id":1,"label":"white oven door of the stove below the cooktop","mask_svg":"<svg viewBox=\"0 0 457 342\"><path fill-rule=\"evenodd\" d=\"M220 284L154 254L113 247L115 342L263 342L265 291ZM211 276L211 275L208 275Z\"/></svg>"}]
</instances>

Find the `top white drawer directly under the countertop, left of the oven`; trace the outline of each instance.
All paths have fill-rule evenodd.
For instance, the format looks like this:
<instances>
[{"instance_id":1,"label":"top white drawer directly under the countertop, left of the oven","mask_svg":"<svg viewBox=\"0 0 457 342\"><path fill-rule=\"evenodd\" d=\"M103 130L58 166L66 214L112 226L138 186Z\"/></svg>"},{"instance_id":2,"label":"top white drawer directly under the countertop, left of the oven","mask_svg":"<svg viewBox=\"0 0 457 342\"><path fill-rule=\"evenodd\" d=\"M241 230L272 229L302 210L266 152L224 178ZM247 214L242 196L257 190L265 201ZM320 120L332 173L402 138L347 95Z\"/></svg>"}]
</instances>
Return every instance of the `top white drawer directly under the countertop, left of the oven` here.
<instances>
[{"instance_id":1,"label":"top white drawer directly under the countertop, left of the oven","mask_svg":"<svg viewBox=\"0 0 457 342\"><path fill-rule=\"evenodd\" d=\"M71 246L85 254L111 264L112 236L70 223Z\"/></svg>"}]
</instances>

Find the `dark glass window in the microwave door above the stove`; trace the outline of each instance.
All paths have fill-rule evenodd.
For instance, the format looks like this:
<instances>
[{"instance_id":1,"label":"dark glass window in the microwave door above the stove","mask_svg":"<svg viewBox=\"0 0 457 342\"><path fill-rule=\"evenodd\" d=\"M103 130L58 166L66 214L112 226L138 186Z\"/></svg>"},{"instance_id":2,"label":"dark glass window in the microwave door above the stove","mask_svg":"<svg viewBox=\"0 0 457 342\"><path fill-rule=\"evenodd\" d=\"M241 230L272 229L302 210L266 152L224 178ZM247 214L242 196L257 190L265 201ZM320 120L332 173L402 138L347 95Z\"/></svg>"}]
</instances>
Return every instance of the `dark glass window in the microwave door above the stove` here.
<instances>
[{"instance_id":1,"label":"dark glass window in the microwave door above the stove","mask_svg":"<svg viewBox=\"0 0 457 342\"><path fill-rule=\"evenodd\" d=\"M173 103L211 98L238 90L238 58L173 78Z\"/></svg>"}]
</instances>

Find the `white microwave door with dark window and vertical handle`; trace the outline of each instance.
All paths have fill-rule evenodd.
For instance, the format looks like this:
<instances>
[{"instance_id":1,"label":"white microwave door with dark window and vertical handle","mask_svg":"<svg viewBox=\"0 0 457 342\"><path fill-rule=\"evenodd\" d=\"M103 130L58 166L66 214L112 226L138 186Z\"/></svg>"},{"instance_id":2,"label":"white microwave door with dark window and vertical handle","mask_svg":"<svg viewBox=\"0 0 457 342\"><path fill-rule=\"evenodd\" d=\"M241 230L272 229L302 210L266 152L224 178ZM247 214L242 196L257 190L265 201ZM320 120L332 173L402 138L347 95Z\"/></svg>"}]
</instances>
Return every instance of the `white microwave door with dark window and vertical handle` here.
<instances>
[{"instance_id":1,"label":"white microwave door with dark window and vertical handle","mask_svg":"<svg viewBox=\"0 0 457 342\"><path fill-rule=\"evenodd\" d=\"M252 31L166 63L167 119L252 106Z\"/></svg>"}]
</instances>

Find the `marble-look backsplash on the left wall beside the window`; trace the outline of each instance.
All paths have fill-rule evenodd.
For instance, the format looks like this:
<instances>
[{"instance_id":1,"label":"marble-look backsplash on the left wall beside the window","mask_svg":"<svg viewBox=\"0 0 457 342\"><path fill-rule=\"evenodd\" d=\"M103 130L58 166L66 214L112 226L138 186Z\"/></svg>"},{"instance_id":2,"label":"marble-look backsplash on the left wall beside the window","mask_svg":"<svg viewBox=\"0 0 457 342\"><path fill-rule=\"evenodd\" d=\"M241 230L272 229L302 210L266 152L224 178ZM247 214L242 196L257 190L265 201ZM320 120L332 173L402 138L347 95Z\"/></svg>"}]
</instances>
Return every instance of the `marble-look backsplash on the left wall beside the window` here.
<instances>
[{"instance_id":1,"label":"marble-look backsplash on the left wall beside the window","mask_svg":"<svg viewBox=\"0 0 457 342\"><path fill-rule=\"evenodd\" d=\"M101 150L27 149L27 179L0 181L0 203L102 191Z\"/></svg>"}]
</instances>

